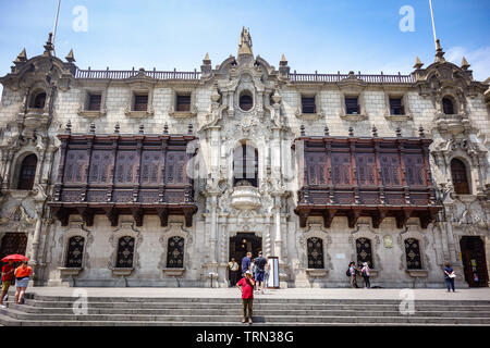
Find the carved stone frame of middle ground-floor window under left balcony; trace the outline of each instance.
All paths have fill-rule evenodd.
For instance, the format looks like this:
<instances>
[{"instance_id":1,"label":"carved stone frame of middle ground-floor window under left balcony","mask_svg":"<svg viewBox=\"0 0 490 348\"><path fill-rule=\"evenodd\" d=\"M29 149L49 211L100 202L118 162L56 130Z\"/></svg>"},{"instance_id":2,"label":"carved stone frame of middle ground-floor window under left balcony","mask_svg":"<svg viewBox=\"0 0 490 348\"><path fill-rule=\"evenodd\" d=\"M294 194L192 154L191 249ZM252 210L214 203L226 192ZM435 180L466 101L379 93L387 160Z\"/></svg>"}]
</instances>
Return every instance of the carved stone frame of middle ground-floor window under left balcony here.
<instances>
[{"instance_id":1,"label":"carved stone frame of middle ground-floor window under left balcony","mask_svg":"<svg viewBox=\"0 0 490 348\"><path fill-rule=\"evenodd\" d=\"M124 236L134 238L134 251L133 251L133 266L132 268L117 268L118 262L118 246L119 239ZM112 253L109 258L108 269L112 271L114 276L130 276L134 270L140 268L139 265L139 252L138 247L143 243L143 236L139 229L134 228L134 223L130 221L121 221L121 225L115 228L109 237L109 244L112 247Z\"/></svg>"}]
</instances>

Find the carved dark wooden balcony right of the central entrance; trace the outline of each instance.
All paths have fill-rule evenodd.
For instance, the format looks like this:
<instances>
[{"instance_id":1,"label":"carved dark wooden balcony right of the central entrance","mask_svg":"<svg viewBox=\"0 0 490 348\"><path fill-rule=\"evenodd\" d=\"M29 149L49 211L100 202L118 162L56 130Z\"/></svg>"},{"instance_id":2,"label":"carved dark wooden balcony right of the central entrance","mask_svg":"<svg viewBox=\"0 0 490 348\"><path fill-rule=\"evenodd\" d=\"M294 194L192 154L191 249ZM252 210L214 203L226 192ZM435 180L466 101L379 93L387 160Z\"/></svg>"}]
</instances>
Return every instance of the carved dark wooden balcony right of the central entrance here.
<instances>
[{"instance_id":1,"label":"carved dark wooden balcony right of the central entrance","mask_svg":"<svg viewBox=\"0 0 490 348\"><path fill-rule=\"evenodd\" d=\"M295 209L301 226L308 216L322 216L327 228L334 216L346 216L353 228L359 216L371 216L379 228L390 216L399 228L409 217L427 228L442 209L429 167L430 144L402 137L297 138L293 147L304 152Z\"/></svg>"}]
</instances>

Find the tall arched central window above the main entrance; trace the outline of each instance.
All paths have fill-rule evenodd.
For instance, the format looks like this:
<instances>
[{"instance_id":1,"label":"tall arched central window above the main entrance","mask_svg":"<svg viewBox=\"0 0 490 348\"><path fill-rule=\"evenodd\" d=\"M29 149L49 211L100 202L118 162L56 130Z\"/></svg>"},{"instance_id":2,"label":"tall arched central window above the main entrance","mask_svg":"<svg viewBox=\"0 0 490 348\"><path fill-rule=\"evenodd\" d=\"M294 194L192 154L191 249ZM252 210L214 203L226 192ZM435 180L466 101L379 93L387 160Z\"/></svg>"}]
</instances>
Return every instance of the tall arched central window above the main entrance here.
<instances>
[{"instance_id":1,"label":"tall arched central window above the main entrance","mask_svg":"<svg viewBox=\"0 0 490 348\"><path fill-rule=\"evenodd\" d=\"M242 144L233 152L233 185L258 185L258 151L249 145Z\"/></svg>"}]
</instances>

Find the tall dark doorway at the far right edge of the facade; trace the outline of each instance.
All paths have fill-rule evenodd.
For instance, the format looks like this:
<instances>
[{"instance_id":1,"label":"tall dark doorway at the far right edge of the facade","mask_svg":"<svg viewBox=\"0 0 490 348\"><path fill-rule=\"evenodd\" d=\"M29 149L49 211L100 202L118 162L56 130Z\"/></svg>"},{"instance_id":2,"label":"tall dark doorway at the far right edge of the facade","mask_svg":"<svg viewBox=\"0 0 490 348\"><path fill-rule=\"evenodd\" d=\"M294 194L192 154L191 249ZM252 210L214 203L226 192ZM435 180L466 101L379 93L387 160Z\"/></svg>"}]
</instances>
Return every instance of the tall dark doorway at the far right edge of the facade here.
<instances>
[{"instance_id":1,"label":"tall dark doorway at the far right edge of the facade","mask_svg":"<svg viewBox=\"0 0 490 348\"><path fill-rule=\"evenodd\" d=\"M488 286L485 245L480 237L464 236L460 240L465 281L470 287Z\"/></svg>"}]
</instances>

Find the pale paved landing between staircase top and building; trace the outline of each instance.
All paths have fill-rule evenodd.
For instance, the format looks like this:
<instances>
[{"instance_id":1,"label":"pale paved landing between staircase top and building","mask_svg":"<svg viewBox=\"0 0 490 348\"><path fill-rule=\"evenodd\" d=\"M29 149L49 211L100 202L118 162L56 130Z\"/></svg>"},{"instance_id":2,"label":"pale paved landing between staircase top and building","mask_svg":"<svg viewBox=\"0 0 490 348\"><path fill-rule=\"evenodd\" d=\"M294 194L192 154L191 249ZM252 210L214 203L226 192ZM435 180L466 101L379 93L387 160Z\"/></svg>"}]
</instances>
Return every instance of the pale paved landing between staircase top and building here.
<instances>
[{"instance_id":1,"label":"pale paved landing between staircase top and building","mask_svg":"<svg viewBox=\"0 0 490 348\"><path fill-rule=\"evenodd\" d=\"M85 289L88 297L179 297L179 298L240 298L236 288L109 288L109 287L29 287L27 294L44 296L79 297L79 289ZM351 289L351 288L287 288L268 289L265 295L256 294L256 298L291 298L291 299L392 299L405 298L403 289ZM415 300L490 300L490 288L456 289L448 293L445 288L411 289Z\"/></svg>"}]
</instances>

